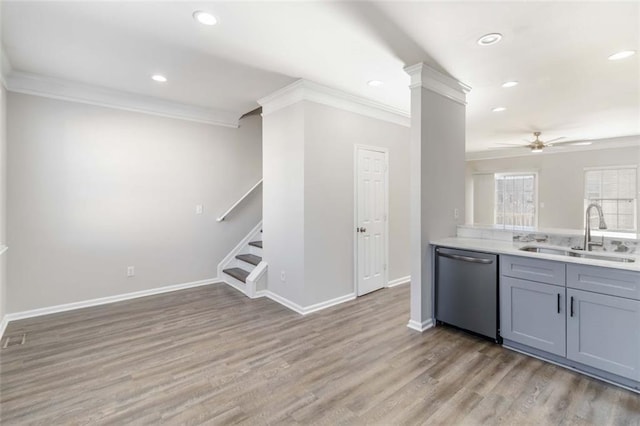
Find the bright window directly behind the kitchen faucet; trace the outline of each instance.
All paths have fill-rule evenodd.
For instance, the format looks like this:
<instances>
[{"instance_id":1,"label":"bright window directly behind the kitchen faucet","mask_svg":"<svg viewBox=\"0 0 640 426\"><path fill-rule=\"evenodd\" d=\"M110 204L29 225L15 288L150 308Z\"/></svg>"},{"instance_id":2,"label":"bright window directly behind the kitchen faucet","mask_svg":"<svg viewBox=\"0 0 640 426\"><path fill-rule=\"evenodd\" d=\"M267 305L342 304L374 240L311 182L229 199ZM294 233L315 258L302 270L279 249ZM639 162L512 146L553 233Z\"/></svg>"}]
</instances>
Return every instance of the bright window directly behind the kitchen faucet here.
<instances>
[{"instance_id":1,"label":"bright window directly behind the kitchen faucet","mask_svg":"<svg viewBox=\"0 0 640 426\"><path fill-rule=\"evenodd\" d=\"M585 169L584 208L599 204L608 230L636 231L637 173L636 166ZM592 228L597 229L597 215L591 220Z\"/></svg>"}]
</instances>

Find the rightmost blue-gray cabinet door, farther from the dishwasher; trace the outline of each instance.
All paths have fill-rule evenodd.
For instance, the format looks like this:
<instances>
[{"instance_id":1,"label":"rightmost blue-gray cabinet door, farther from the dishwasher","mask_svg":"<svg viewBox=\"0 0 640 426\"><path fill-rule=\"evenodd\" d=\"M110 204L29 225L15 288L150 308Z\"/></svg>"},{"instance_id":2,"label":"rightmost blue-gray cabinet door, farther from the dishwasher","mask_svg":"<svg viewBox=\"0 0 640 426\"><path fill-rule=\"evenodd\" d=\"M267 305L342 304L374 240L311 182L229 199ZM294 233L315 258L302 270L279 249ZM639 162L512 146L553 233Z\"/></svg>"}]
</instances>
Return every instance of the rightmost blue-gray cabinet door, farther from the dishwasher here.
<instances>
[{"instance_id":1,"label":"rightmost blue-gray cabinet door, farther from the dishwasher","mask_svg":"<svg viewBox=\"0 0 640 426\"><path fill-rule=\"evenodd\" d=\"M640 380L639 301L567 289L567 314L567 358Z\"/></svg>"}]
</instances>

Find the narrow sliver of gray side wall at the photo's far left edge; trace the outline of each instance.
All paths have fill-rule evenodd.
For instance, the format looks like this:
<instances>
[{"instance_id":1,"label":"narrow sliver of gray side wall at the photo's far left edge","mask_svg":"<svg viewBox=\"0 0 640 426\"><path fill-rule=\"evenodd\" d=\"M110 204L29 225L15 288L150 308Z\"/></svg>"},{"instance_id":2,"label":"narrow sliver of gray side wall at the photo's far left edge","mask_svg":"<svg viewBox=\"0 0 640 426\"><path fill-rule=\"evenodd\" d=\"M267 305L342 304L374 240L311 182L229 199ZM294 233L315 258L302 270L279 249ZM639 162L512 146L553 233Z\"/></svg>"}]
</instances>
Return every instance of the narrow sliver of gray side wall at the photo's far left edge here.
<instances>
[{"instance_id":1,"label":"narrow sliver of gray side wall at the photo's far left edge","mask_svg":"<svg viewBox=\"0 0 640 426\"><path fill-rule=\"evenodd\" d=\"M7 241L7 92L0 84L0 246ZM0 255L0 321L7 313L7 255Z\"/></svg>"}]
</instances>

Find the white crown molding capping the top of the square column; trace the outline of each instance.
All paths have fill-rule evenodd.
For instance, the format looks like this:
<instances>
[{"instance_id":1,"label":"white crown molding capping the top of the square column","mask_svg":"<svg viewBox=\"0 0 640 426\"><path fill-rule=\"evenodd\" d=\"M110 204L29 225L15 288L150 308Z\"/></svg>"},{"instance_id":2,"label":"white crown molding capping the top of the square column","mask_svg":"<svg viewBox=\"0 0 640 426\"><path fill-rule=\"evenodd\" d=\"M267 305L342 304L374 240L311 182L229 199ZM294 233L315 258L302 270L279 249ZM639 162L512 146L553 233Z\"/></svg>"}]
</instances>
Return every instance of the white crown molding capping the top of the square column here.
<instances>
[{"instance_id":1,"label":"white crown molding capping the top of the square column","mask_svg":"<svg viewBox=\"0 0 640 426\"><path fill-rule=\"evenodd\" d=\"M406 67L404 71L411 77L411 89L423 87L462 105L467 104L467 93L471 91L471 87L455 78L431 68L424 62Z\"/></svg>"}]
</instances>

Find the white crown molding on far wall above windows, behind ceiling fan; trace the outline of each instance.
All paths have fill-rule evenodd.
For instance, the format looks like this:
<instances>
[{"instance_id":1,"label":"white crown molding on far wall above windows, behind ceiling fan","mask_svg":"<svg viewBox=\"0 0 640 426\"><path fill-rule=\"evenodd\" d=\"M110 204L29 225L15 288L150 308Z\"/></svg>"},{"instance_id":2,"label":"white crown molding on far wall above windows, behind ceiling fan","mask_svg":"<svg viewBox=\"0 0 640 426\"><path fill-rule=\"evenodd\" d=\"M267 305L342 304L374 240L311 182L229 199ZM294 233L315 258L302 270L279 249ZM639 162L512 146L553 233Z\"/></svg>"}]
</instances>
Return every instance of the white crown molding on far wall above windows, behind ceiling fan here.
<instances>
[{"instance_id":1,"label":"white crown molding on far wall above windows, behind ceiling fan","mask_svg":"<svg viewBox=\"0 0 640 426\"><path fill-rule=\"evenodd\" d=\"M579 141L576 141L579 142ZM513 157L527 157L530 155L554 155L554 154L566 154L569 152L578 151L596 151L600 149L616 149L616 148L630 148L640 147L640 135L633 136L621 136L618 138L606 138L606 139L593 139L590 140L591 145L586 146L573 146L565 145L562 149L550 148L544 149L542 152L532 153L530 149L523 147L494 149L487 151L470 151L465 154L466 161L476 160L494 160L497 158L513 158Z\"/></svg>"}]
</instances>

